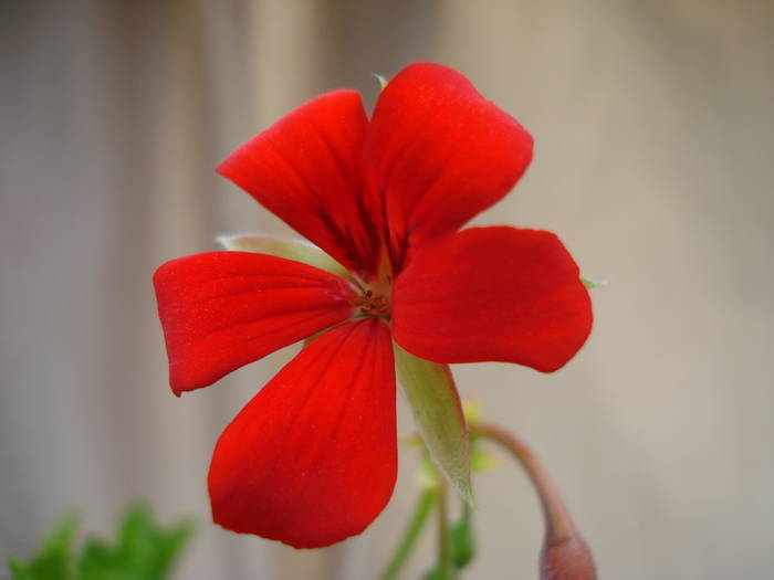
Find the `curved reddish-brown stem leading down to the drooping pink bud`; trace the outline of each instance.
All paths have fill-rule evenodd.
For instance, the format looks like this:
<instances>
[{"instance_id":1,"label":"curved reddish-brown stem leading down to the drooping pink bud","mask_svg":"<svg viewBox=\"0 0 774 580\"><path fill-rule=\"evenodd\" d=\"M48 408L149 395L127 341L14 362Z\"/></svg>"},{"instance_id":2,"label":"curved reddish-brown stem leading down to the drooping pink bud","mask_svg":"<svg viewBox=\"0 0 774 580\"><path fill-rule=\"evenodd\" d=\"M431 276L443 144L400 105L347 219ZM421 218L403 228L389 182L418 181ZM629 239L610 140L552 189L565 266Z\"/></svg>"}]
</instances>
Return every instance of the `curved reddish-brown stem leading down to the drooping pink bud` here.
<instances>
[{"instance_id":1,"label":"curved reddish-brown stem leading down to the drooping pink bud","mask_svg":"<svg viewBox=\"0 0 774 580\"><path fill-rule=\"evenodd\" d=\"M503 447L522 464L543 507L545 517L546 537L552 542L559 542L575 535L575 526L569 513L562 500L554 482L543 464L522 441L504 429L487 423L472 423L471 436L490 439Z\"/></svg>"}]
</instances>

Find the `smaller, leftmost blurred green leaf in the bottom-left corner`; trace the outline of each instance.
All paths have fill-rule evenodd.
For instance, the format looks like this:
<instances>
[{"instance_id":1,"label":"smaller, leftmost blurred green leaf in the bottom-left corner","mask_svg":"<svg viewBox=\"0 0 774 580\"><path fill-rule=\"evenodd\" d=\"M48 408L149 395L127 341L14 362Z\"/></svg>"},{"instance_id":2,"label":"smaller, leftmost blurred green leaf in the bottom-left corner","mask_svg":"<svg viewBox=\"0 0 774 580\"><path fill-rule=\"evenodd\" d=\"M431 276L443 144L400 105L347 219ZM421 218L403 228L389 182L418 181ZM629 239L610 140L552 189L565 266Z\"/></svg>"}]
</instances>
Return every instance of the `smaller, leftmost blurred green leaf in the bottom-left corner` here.
<instances>
[{"instance_id":1,"label":"smaller, leftmost blurred green leaf in the bottom-left corner","mask_svg":"<svg viewBox=\"0 0 774 580\"><path fill-rule=\"evenodd\" d=\"M30 561L9 558L8 568L14 580L75 580L73 541L79 527L75 514L65 516L43 538L43 546Z\"/></svg>"}]
</instances>

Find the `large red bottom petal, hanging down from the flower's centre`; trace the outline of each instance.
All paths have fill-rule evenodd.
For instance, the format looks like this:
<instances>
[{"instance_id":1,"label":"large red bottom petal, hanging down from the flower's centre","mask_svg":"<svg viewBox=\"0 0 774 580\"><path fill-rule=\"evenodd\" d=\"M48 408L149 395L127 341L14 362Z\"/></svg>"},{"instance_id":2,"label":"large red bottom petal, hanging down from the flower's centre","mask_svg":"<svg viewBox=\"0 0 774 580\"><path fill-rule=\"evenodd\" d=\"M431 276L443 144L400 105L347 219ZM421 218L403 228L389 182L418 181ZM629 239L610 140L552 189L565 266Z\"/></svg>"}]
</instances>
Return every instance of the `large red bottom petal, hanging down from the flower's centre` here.
<instances>
[{"instance_id":1,"label":"large red bottom petal, hanging down from the flower's centre","mask_svg":"<svg viewBox=\"0 0 774 580\"><path fill-rule=\"evenodd\" d=\"M379 515L396 475L389 329L349 323L302 350L220 435L212 517L295 548L328 546Z\"/></svg>"}]
</instances>

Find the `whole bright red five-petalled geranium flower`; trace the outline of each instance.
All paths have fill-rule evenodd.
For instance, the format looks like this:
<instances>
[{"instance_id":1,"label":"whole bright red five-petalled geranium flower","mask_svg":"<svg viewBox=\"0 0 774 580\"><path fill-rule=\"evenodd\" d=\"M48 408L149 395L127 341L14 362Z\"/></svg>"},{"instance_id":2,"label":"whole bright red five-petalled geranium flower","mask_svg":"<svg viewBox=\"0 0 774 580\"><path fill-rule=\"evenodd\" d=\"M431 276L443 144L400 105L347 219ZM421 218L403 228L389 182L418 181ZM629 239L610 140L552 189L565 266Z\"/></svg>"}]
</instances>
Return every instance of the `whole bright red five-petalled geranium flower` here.
<instances>
[{"instance_id":1,"label":"whole bright red five-petalled geranium flower","mask_svg":"<svg viewBox=\"0 0 774 580\"><path fill-rule=\"evenodd\" d=\"M223 161L220 175L333 257L342 275L301 254L238 251L156 272L177 394L320 334L218 440L208 478L215 521L311 548L376 518L397 474L393 341L418 357L415 370L423 359L551 372L575 355L590 303L556 235L458 232L531 158L532 137L462 75L414 64L389 82L370 120L358 93L335 91ZM451 391L453 407L453 383ZM420 423L440 413L409 400Z\"/></svg>"}]
</instances>

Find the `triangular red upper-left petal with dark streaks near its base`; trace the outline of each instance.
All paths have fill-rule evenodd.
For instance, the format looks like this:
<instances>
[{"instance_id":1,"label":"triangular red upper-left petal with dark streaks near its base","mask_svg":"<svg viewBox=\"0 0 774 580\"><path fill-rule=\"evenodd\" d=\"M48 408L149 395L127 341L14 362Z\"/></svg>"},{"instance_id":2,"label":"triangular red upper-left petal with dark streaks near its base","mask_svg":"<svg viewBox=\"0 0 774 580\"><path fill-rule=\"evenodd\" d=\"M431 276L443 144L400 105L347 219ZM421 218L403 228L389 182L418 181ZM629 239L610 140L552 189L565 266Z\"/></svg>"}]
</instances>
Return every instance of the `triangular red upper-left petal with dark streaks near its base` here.
<instances>
[{"instance_id":1,"label":"triangular red upper-left petal with dark streaks near its base","mask_svg":"<svg viewBox=\"0 0 774 580\"><path fill-rule=\"evenodd\" d=\"M360 187L367 129L358 93L327 93L243 145L218 172L342 264L370 271L379 243Z\"/></svg>"}]
</instances>

